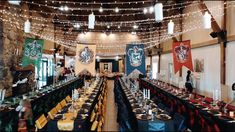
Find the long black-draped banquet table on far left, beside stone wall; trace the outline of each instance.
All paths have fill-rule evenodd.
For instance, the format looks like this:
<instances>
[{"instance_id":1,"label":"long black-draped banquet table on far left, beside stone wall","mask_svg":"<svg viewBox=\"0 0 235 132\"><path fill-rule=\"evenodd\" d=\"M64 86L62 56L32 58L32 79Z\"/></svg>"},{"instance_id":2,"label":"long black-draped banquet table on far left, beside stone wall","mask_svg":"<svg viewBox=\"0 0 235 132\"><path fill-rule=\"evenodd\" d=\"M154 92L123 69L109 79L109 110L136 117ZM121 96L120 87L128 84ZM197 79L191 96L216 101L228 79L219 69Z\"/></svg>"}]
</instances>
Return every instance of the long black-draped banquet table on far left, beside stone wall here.
<instances>
[{"instance_id":1,"label":"long black-draped banquet table on far left, beside stone wall","mask_svg":"<svg viewBox=\"0 0 235 132\"><path fill-rule=\"evenodd\" d=\"M42 91L37 93L26 93L31 102L33 120L31 125L34 125L35 120L42 114L46 114L54 105L67 95L71 95L74 88L83 86L82 78L74 78L64 83L57 84L53 87L42 88ZM0 131L17 131L18 129L18 112L15 110L23 95L5 99L4 107L0 109Z\"/></svg>"}]
</instances>

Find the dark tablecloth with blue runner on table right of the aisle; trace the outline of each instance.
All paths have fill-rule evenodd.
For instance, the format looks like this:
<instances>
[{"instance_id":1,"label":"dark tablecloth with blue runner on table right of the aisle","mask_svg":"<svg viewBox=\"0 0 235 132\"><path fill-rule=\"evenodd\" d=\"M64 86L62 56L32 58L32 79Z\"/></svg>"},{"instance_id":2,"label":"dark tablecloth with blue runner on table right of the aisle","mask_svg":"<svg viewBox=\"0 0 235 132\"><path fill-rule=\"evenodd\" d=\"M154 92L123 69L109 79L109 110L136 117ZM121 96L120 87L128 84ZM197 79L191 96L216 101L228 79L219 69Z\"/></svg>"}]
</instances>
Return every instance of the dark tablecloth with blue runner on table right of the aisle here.
<instances>
[{"instance_id":1,"label":"dark tablecloth with blue runner on table right of the aisle","mask_svg":"<svg viewBox=\"0 0 235 132\"><path fill-rule=\"evenodd\" d=\"M136 114L133 112L133 107L129 99L127 98L121 80L115 80L115 101L118 104L118 120L123 125L125 130L134 131L174 131L173 120L139 120L136 118Z\"/></svg>"}]
</instances>

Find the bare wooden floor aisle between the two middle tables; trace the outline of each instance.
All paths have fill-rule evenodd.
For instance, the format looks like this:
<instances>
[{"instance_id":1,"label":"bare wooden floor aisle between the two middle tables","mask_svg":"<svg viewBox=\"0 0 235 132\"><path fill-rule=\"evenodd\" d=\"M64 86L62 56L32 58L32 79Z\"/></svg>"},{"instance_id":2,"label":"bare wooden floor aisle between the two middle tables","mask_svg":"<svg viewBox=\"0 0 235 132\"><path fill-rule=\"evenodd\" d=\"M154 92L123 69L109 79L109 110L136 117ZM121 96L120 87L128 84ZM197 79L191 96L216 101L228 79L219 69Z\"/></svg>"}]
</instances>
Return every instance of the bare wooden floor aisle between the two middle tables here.
<instances>
[{"instance_id":1,"label":"bare wooden floor aisle between the two middle tables","mask_svg":"<svg viewBox=\"0 0 235 132\"><path fill-rule=\"evenodd\" d=\"M107 107L103 131L119 131L117 123L117 108L114 101L114 81L108 80Z\"/></svg>"}]
</instances>

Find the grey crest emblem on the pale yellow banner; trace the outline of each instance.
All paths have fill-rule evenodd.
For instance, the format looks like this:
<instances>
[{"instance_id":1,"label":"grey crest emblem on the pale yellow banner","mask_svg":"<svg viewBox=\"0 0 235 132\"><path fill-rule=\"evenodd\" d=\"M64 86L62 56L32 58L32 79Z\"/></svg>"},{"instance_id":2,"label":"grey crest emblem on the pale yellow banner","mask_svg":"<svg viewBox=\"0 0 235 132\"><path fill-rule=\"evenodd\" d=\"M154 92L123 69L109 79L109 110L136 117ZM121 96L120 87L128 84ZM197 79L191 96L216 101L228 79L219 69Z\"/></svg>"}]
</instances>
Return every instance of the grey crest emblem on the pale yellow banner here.
<instances>
[{"instance_id":1,"label":"grey crest emblem on the pale yellow banner","mask_svg":"<svg viewBox=\"0 0 235 132\"><path fill-rule=\"evenodd\" d=\"M93 62L94 52L88 47L84 47L79 51L79 61L83 64L89 64Z\"/></svg>"}]
</instances>

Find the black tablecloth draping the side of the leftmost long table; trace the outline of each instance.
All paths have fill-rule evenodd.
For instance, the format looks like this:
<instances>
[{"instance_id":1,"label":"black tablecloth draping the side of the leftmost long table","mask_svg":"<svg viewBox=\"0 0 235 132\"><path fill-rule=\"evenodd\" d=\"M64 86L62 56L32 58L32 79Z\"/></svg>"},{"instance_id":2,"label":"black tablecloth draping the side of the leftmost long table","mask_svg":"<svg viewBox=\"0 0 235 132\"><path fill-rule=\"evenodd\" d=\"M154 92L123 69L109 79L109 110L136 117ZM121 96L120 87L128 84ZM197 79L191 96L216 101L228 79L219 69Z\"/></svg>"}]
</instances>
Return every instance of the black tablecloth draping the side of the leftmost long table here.
<instances>
[{"instance_id":1,"label":"black tablecloth draping the side of the leftmost long table","mask_svg":"<svg viewBox=\"0 0 235 132\"><path fill-rule=\"evenodd\" d=\"M55 105L64 99L67 95L71 95L74 88L82 87L83 79L77 78L62 86L57 86L55 90L48 93L40 94L38 97L31 98L31 106L33 112L33 123L42 114L55 107ZM27 95L27 94L26 94ZM8 99L13 100L13 99ZM16 108L13 104L11 107ZM18 129L18 112L12 110L0 110L0 131L17 131ZM34 125L34 124L31 124Z\"/></svg>"}]
</instances>

